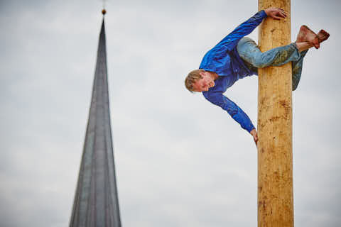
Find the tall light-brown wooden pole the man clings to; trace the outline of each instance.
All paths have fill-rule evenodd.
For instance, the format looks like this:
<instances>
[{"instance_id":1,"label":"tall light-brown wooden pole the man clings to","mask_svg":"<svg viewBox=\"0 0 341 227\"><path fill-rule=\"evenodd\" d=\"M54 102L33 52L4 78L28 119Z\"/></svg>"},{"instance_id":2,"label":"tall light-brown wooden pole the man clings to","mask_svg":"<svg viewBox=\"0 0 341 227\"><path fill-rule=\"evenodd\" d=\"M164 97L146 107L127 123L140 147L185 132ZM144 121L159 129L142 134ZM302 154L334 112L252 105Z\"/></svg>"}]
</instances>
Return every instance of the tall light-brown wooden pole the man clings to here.
<instances>
[{"instance_id":1,"label":"tall light-brown wooden pole the man clings to","mask_svg":"<svg viewBox=\"0 0 341 227\"><path fill-rule=\"evenodd\" d=\"M261 51L291 43L290 0L258 2L259 10L274 6L288 12L280 21L263 21ZM258 72L258 226L293 226L291 62Z\"/></svg>"}]
</instances>

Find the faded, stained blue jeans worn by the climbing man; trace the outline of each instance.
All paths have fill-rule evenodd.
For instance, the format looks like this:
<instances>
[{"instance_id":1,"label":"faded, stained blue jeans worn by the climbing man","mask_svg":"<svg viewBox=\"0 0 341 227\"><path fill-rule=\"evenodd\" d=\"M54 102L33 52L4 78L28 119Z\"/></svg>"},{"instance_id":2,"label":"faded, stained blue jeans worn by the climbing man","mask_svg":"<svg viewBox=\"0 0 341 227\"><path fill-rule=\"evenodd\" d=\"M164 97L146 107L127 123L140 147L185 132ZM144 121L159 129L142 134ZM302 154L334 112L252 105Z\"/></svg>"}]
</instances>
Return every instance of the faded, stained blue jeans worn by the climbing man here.
<instances>
[{"instance_id":1,"label":"faded, stained blue jeans worn by the climbing man","mask_svg":"<svg viewBox=\"0 0 341 227\"><path fill-rule=\"evenodd\" d=\"M237 51L239 56L242 57L247 67L250 70L257 72L258 68L267 66L281 66L288 62L292 62L293 67L293 91L298 87L298 82L300 82L302 67L303 67L303 57L308 52L305 50L303 52L298 52L296 45L291 43L289 45L274 48L266 52L261 52L258 46L251 40L251 38L242 38L238 45Z\"/></svg>"}]
</instances>

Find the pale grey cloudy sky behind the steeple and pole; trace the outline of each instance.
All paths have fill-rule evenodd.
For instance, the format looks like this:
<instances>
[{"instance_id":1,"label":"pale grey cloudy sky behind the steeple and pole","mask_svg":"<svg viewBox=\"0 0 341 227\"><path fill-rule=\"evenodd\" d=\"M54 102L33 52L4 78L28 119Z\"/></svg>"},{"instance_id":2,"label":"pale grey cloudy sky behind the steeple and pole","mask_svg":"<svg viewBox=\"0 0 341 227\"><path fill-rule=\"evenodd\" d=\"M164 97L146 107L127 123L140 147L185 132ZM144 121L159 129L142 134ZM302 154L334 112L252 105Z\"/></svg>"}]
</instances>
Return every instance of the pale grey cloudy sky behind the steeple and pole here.
<instances>
[{"instance_id":1,"label":"pale grey cloudy sky behind the steeple and pole","mask_svg":"<svg viewBox=\"0 0 341 227\"><path fill-rule=\"evenodd\" d=\"M256 0L107 1L109 92L124 226L256 226L256 146L185 75ZM296 226L341 222L340 1L293 1L292 39L331 36L293 93ZM67 226L102 1L0 1L0 226ZM256 39L254 31L251 38ZM226 95L256 125L257 77Z\"/></svg>"}]
</instances>

